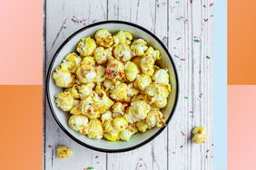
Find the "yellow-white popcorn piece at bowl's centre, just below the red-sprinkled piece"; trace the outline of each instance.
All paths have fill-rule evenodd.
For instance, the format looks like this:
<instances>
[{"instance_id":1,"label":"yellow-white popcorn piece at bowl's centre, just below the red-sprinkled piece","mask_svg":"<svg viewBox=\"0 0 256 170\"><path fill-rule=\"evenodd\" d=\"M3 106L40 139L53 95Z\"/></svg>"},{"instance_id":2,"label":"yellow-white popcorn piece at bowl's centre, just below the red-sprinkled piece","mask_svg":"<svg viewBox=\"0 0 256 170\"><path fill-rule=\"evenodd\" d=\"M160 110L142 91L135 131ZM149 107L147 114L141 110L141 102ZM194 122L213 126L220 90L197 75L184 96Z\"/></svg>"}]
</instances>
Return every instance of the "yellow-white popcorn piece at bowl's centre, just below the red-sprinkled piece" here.
<instances>
[{"instance_id":1,"label":"yellow-white popcorn piece at bowl's centre, just below the red-sprinkled piece","mask_svg":"<svg viewBox=\"0 0 256 170\"><path fill-rule=\"evenodd\" d=\"M120 83L114 86L111 90L110 97L116 101L123 100L127 98L127 85L125 83Z\"/></svg>"}]
</instances>

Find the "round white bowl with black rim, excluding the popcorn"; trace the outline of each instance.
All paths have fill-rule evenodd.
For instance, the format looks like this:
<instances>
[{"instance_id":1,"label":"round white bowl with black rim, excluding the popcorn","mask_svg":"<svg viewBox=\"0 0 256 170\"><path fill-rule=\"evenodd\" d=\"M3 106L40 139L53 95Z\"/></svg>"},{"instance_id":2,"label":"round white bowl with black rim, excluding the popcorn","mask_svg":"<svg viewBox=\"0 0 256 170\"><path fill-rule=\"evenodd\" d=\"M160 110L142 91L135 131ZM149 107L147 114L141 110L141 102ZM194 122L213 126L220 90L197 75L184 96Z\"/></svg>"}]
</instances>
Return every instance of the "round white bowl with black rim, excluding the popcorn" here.
<instances>
[{"instance_id":1,"label":"round white bowl with black rim, excluding the popcorn","mask_svg":"<svg viewBox=\"0 0 256 170\"><path fill-rule=\"evenodd\" d=\"M162 68L167 68L170 73L170 81L172 85L172 92L168 98L168 105L166 108L162 109L162 113L166 118L166 124L169 123L170 119L172 118L174 109L177 104L178 99L178 79L177 79L177 72L174 67L174 62L172 61L172 57L168 50L165 48L163 43L151 32L144 29L143 27L122 22L122 21L105 21L95 24L90 24L77 32L73 33L63 44L60 46L58 51L54 54L54 58L51 61L50 67L47 73L46 79L46 94L50 109L54 115L54 118L58 125L64 130L64 132L74 139L74 141L78 142L79 144L92 148L94 150L103 151L103 152L123 152L132 150L139 146L143 146L144 144L148 143L149 141L153 140L154 137L157 137L164 127L154 127L151 130L147 130L145 133L137 133L134 135L129 142L124 141L115 141L110 142L105 139L94 140L89 137L82 136L74 130L72 130L67 125L67 120L70 117L70 114L65 113L61 109L58 109L54 104L54 95L59 93L62 89L58 88L54 80L51 78L51 74L54 69L60 65L61 61L64 59L64 56L68 52L73 52L75 49L76 44L80 41L82 37L91 36L94 37L94 33L104 28L108 30L110 33L116 33L119 30L127 30L133 34L133 37L140 37L143 38L146 42L153 46L153 48L158 49L161 54L161 60L157 61L157 64Z\"/></svg>"}]
</instances>

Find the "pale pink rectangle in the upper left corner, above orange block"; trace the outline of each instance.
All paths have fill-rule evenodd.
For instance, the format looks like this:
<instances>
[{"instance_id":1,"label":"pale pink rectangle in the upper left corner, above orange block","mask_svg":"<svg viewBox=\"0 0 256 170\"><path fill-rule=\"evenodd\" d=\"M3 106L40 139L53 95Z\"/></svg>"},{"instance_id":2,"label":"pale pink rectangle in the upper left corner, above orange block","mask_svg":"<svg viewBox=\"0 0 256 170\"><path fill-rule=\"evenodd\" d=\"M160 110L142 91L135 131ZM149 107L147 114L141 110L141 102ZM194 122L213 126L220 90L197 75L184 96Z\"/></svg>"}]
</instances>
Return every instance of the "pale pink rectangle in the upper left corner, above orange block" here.
<instances>
[{"instance_id":1,"label":"pale pink rectangle in the upper left corner, above orange block","mask_svg":"<svg viewBox=\"0 0 256 170\"><path fill-rule=\"evenodd\" d=\"M0 84L42 84L43 2L2 1Z\"/></svg>"}]
</instances>

